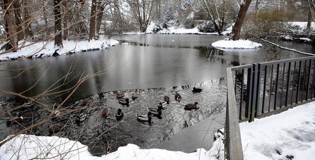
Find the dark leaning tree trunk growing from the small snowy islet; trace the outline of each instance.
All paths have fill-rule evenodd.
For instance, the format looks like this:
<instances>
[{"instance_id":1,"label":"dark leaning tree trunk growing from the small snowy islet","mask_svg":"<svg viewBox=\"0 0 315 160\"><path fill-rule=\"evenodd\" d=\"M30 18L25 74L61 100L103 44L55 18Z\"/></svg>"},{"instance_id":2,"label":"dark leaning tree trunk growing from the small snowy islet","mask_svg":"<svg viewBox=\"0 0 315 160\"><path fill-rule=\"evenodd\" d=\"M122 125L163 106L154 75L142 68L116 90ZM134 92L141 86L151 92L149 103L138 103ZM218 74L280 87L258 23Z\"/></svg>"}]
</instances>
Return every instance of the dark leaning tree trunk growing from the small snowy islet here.
<instances>
[{"instance_id":1,"label":"dark leaning tree trunk growing from the small snowy islet","mask_svg":"<svg viewBox=\"0 0 315 160\"><path fill-rule=\"evenodd\" d=\"M232 28L232 40L236 41L240 39L241 34L241 28L243 25L244 18L246 16L246 12L248 10L248 7L250 6L252 0L244 0L243 3L241 3L240 10L238 12L235 24Z\"/></svg>"}]
</instances>

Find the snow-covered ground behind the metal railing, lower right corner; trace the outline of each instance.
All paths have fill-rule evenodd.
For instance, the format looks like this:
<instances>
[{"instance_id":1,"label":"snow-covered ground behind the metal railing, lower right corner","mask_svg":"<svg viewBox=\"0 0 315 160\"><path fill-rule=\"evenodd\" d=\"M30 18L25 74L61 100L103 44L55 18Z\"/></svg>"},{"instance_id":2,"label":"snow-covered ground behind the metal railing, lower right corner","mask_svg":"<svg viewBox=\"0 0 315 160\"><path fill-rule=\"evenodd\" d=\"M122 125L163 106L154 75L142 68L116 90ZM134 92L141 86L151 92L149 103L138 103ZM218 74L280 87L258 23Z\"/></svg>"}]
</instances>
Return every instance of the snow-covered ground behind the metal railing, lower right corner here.
<instances>
[{"instance_id":1,"label":"snow-covered ground behind the metal railing, lower right corner","mask_svg":"<svg viewBox=\"0 0 315 160\"><path fill-rule=\"evenodd\" d=\"M314 160L315 102L240 123L245 160Z\"/></svg>"}]
</instances>

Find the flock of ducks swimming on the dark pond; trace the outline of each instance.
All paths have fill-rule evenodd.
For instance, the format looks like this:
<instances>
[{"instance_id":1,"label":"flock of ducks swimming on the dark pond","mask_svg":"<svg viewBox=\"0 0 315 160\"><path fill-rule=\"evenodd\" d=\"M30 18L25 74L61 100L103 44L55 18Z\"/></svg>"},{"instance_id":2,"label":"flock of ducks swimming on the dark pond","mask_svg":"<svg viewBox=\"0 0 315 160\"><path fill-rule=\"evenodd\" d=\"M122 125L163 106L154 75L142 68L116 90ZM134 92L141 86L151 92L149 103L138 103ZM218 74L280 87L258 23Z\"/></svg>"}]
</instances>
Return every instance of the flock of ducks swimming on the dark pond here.
<instances>
[{"instance_id":1,"label":"flock of ducks swimming on the dark pond","mask_svg":"<svg viewBox=\"0 0 315 160\"><path fill-rule=\"evenodd\" d=\"M201 88L195 88L193 87L192 89L192 92L193 93L200 93L202 91ZM100 97L102 95L99 95ZM127 107L129 106L129 99L128 98L124 98L125 96L125 93L124 92L119 92L116 94L116 97L118 99L118 102L122 105L126 105ZM139 96L138 93L133 93L131 95L131 98L132 100L135 100L137 99ZM175 100L176 101L181 101L182 100L182 96L176 91L175 92L175 96L174 96ZM164 96L164 102L160 102L159 105L158 105L158 108L154 108L154 107L148 107L148 113L147 114L141 114L141 113L138 113L136 114L137 116L137 120L140 121L140 122L148 122L149 124L151 124L151 120L152 120L152 117L158 117L158 119L161 119L161 114L162 114L162 111L164 109L166 109L167 105L169 105L169 102L170 102L170 98L168 96ZM1 104L0 104L1 105ZM82 101L82 105L84 106L87 106L89 105L89 101L88 100L83 100ZM198 102L195 102L194 104L187 104L185 105L184 109L185 110L191 110L191 109L195 109L195 110L198 110L199 107L197 107L198 105ZM20 106L21 108L30 108L30 107L33 107L33 103L31 102L28 102L28 103L24 103L22 106ZM55 117L58 117L60 116L61 112L59 110L56 110L52 113L52 119L54 119ZM101 112L101 115L103 117L107 117L108 115L110 114L110 110L109 108L104 108ZM83 115L78 115L75 119L75 123L80 126L80 122L84 121L87 117L87 114L83 114ZM117 121L120 121L123 117L124 117L124 113L122 111L121 108L119 108L115 114L115 117L116 117L116 120ZM23 117L21 115L21 113L18 113L18 116L15 116L15 117L12 117L11 119L7 120L6 124L7 125L15 125L15 124L19 124L21 121L23 120ZM57 133L57 132L60 132L60 131L63 131L64 130L64 126L48 126L48 131L50 133L50 135L52 133Z\"/></svg>"}]
</instances>

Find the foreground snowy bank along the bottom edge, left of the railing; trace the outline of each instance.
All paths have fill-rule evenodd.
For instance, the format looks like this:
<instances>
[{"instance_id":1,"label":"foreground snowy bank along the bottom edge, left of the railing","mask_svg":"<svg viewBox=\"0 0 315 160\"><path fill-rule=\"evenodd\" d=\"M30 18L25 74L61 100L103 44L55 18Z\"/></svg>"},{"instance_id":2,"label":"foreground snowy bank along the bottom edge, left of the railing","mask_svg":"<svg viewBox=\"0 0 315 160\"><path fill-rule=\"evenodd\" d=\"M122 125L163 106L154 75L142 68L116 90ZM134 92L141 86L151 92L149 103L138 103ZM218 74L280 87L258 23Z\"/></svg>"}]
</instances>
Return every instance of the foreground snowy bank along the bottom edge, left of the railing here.
<instances>
[{"instance_id":1,"label":"foreground snowy bank along the bottom edge, left of the railing","mask_svg":"<svg viewBox=\"0 0 315 160\"><path fill-rule=\"evenodd\" d=\"M220 142L219 142L220 143ZM88 147L67 138L21 134L0 147L1 160L213 160L218 153L223 156L223 144L214 143L213 149L197 149L193 153L174 152L163 149L140 149L134 144L119 147L116 152L102 157L92 156Z\"/></svg>"}]
</instances>

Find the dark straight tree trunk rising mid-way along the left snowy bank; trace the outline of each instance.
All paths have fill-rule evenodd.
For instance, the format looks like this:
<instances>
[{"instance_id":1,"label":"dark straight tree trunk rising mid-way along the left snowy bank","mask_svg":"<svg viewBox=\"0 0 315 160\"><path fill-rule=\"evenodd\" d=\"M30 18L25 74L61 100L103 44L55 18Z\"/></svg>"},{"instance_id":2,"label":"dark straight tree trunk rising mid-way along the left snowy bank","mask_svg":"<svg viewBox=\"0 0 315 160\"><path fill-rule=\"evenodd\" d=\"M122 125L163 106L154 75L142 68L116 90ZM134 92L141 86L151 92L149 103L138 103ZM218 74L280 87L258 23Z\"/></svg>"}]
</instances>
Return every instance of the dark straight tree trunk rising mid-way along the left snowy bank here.
<instances>
[{"instance_id":1,"label":"dark straight tree trunk rising mid-way along the left snowy bank","mask_svg":"<svg viewBox=\"0 0 315 160\"><path fill-rule=\"evenodd\" d=\"M62 19L61 19L61 0L54 0L54 15L55 15L55 45L63 47L63 34L62 34Z\"/></svg>"}]
</instances>

